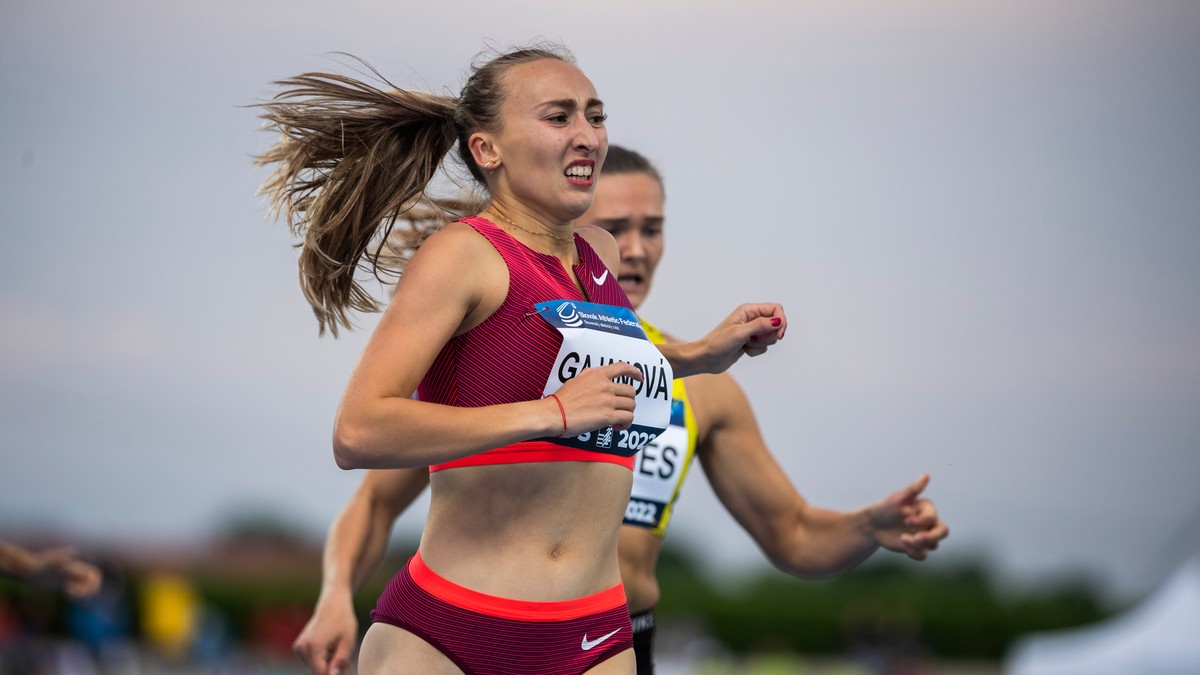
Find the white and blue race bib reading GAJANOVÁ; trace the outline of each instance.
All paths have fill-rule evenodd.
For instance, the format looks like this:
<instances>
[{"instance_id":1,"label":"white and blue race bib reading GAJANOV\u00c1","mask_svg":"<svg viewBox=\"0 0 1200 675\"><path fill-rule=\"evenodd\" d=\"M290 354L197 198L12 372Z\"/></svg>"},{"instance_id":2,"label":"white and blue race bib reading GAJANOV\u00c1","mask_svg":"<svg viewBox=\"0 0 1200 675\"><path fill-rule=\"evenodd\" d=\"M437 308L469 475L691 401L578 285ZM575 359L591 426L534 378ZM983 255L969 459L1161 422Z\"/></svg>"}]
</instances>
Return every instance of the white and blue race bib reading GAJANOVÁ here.
<instances>
[{"instance_id":1,"label":"white and blue race bib reading GAJANOV\u00c1","mask_svg":"<svg viewBox=\"0 0 1200 675\"><path fill-rule=\"evenodd\" d=\"M628 307L577 300L538 303L538 316L563 335L563 346L542 393L548 396L588 368L624 362L642 371L642 381L618 380L634 387L634 424L611 426L568 438L544 438L580 448L630 456L655 441L671 420L671 364L647 338Z\"/></svg>"}]
</instances>

